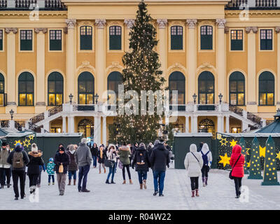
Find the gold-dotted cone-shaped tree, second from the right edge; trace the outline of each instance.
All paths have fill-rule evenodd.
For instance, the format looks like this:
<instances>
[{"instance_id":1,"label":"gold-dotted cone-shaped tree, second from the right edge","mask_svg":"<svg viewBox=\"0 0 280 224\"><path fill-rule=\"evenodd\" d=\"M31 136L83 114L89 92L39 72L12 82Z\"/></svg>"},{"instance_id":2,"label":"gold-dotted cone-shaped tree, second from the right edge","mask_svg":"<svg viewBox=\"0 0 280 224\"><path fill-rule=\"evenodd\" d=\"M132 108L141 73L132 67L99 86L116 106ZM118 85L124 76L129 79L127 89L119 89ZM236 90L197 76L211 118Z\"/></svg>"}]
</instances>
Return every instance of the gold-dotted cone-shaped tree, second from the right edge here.
<instances>
[{"instance_id":1,"label":"gold-dotted cone-shaped tree, second from the right edge","mask_svg":"<svg viewBox=\"0 0 280 224\"><path fill-rule=\"evenodd\" d=\"M262 179L260 170L260 144L255 137L252 141L250 173L248 179Z\"/></svg>"}]
</instances>

